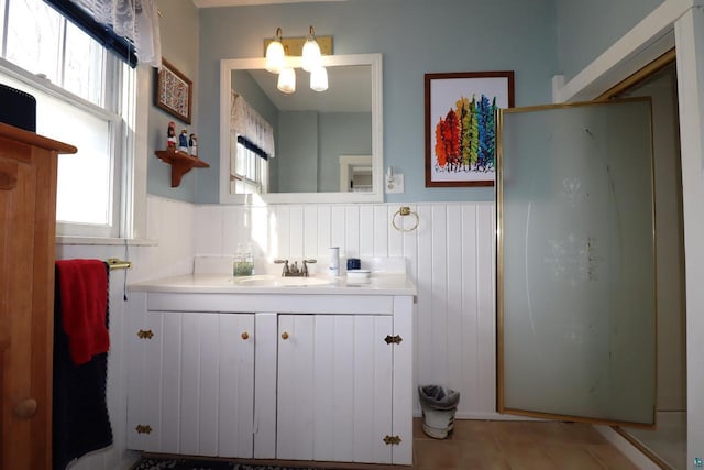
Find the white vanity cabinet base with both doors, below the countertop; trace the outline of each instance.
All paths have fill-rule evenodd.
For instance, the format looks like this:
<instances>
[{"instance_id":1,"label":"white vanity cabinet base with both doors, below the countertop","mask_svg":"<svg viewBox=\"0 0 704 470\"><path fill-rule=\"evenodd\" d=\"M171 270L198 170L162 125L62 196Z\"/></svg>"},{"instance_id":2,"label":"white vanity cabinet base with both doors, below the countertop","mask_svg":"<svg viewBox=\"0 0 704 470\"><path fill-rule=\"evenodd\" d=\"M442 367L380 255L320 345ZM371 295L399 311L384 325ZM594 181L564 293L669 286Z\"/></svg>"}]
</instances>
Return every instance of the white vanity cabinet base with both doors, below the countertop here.
<instances>
[{"instance_id":1,"label":"white vanity cabinet base with both doors, below the countertop","mask_svg":"<svg viewBox=\"0 0 704 470\"><path fill-rule=\"evenodd\" d=\"M410 288L131 289L129 448L413 463Z\"/></svg>"}]
</instances>

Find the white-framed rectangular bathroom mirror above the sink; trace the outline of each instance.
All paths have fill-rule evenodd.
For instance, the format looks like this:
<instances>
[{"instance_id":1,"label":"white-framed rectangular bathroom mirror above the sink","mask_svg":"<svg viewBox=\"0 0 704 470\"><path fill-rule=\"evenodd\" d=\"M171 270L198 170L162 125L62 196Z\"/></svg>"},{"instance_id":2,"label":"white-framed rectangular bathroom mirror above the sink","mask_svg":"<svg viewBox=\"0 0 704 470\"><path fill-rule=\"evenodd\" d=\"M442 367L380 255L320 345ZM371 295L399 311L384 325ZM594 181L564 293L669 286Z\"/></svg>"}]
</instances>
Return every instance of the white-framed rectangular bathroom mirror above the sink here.
<instances>
[{"instance_id":1,"label":"white-framed rectangular bathroom mirror above the sink","mask_svg":"<svg viewBox=\"0 0 704 470\"><path fill-rule=\"evenodd\" d=\"M320 92L310 90L300 58L287 59L297 73L296 91L290 95L276 89L277 76L265 70L264 58L220 62L220 203L383 201L382 55L323 56L329 88ZM235 190L233 96L243 98L275 135L275 156L263 165L263 184L244 189L248 194ZM292 121L304 127L287 130ZM366 157L361 187L340 181L350 155Z\"/></svg>"}]
</instances>

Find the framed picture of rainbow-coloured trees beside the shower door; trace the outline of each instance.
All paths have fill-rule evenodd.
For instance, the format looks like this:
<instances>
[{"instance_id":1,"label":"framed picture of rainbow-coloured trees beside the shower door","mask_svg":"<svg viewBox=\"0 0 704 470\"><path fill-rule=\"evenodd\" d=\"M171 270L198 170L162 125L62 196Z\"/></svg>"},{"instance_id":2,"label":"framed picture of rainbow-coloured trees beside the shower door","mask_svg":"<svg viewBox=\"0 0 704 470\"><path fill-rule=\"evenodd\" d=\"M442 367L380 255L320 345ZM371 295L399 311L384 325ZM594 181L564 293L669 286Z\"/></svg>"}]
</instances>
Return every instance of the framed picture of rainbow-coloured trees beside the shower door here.
<instances>
[{"instance_id":1,"label":"framed picture of rainbow-coloured trees beside the shower door","mask_svg":"<svg viewBox=\"0 0 704 470\"><path fill-rule=\"evenodd\" d=\"M425 74L426 187L494 186L496 109L514 107L514 72Z\"/></svg>"}]
</instances>

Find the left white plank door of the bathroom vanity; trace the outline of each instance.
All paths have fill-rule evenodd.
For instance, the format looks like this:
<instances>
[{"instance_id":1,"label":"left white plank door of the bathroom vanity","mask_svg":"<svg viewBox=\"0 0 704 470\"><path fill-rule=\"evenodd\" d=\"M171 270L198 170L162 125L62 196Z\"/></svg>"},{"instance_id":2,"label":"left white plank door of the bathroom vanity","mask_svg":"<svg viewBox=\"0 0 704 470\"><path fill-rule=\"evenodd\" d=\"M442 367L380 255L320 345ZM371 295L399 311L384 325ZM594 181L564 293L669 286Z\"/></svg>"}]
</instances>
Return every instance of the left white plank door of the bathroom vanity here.
<instances>
[{"instance_id":1,"label":"left white plank door of the bathroom vanity","mask_svg":"<svg viewBox=\"0 0 704 470\"><path fill-rule=\"evenodd\" d=\"M128 447L252 457L254 315L148 311L131 352Z\"/></svg>"}]
</instances>

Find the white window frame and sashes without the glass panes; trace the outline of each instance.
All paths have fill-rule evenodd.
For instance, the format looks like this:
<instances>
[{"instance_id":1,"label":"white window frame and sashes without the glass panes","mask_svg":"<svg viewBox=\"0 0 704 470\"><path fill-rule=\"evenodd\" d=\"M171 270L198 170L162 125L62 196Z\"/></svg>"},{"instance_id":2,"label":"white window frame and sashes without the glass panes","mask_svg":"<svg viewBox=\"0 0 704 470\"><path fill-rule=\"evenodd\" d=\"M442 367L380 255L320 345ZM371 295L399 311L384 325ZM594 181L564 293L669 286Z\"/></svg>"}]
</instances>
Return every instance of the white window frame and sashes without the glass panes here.
<instances>
[{"instance_id":1,"label":"white window frame and sashes without the glass panes","mask_svg":"<svg viewBox=\"0 0 704 470\"><path fill-rule=\"evenodd\" d=\"M11 1L11 0L10 0ZM8 0L0 0L0 9L7 12ZM47 8L51 8L47 4ZM65 22L69 22L61 14ZM6 51L8 18L0 20L0 41L2 54ZM65 30L65 29L64 29ZM80 31L80 29L78 29ZM81 31L85 34L85 31ZM65 37L62 37L65 42ZM135 239L146 232L146 133L139 129L147 128L148 76L151 67L131 68L121 57L102 46L105 61L102 77L102 101L105 108L78 97L63 87L43 80L29 70L0 57L0 72L29 88L44 92L68 106L76 107L98 119L108 122L110 128L110 225L90 225L56 221L57 243L89 244L150 244ZM62 69L64 57L62 57ZM64 72L62 70L62 74ZM110 111L108 109L114 110ZM61 140L61 139L58 139ZM138 157L138 155L144 155Z\"/></svg>"}]
</instances>

